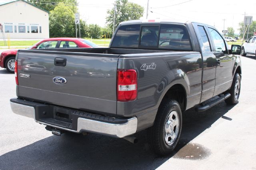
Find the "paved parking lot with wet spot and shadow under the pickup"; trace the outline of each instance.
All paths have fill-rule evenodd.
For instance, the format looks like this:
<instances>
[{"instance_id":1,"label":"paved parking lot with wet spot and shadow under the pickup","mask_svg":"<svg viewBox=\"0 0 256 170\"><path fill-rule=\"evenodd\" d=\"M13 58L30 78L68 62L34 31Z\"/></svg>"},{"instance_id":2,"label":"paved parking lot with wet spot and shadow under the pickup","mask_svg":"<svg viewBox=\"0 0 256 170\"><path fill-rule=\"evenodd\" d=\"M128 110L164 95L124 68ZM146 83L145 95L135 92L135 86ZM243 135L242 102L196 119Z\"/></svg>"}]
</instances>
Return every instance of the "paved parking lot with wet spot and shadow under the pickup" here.
<instances>
[{"instance_id":1,"label":"paved parking lot with wet spot and shadow under the pickup","mask_svg":"<svg viewBox=\"0 0 256 170\"><path fill-rule=\"evenodd\" d=\"M242 57L239 103L183 113L172 155L153 154L146 130L139 143L101 135L52 135L33 119L15 115L14 74L0 68L0 170L5 169L256 169L256 59Z\"/></svg>"}]
</instances>

